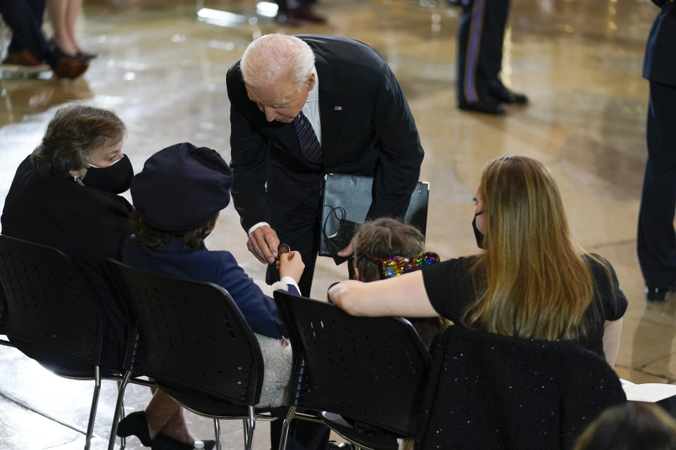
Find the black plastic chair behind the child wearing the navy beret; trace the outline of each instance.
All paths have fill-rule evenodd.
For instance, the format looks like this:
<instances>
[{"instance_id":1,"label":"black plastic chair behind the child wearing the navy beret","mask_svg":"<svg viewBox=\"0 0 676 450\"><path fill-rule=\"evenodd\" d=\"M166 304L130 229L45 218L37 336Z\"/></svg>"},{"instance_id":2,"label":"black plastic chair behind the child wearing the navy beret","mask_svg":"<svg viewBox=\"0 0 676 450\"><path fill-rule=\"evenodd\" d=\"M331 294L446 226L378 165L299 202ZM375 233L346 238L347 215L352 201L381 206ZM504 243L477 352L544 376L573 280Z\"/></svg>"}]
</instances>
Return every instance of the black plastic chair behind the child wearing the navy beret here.
<instances>
[{"instance_id":1,"label":"black plastic chair behind the child wearing the navy beret","mask_svg":"<svg viewBox=\"0 0 676 450\"><path fill-rule=\"evenodd\" d=\"M134 269L113 259L106 264L130 321L118 407L130 375L147 375L185 408L214 419L217 449L218 419L242 419L250 450L256 420L277 417L260 414L270 409L254 409L263 386L263 356L232 297L214 283ZM110 450L117 427L115 420Z\"/></svg>"}]
</instances>

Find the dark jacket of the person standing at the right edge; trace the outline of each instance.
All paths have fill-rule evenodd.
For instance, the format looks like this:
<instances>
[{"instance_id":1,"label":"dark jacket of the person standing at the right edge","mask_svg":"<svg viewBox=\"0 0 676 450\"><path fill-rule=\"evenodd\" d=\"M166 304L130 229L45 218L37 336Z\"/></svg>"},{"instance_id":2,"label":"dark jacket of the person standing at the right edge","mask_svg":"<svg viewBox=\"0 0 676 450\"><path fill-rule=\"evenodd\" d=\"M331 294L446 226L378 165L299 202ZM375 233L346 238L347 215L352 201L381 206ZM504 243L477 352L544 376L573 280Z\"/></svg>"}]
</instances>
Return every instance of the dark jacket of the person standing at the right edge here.
<instances>
[{"instance_id":1,"label":"dark jacket of the person standing at the right edge","mask_svg":"<svg viewBox=\"0 0 676 450\"><path fill-rule=\"evenodd\" d=\"M643 63L643 77L651 82L676 86L676 4L653 0L662 8L650 30Z\"/></svg>"}]
</instances>

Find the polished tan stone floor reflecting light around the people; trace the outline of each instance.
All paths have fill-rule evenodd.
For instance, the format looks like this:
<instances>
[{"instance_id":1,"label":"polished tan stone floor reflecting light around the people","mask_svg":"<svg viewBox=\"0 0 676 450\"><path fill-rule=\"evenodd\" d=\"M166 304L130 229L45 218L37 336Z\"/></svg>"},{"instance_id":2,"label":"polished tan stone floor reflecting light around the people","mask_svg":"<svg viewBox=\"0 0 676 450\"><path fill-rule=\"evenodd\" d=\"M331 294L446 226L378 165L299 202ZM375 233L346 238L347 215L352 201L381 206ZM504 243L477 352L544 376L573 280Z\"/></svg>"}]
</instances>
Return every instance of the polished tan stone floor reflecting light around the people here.
<instances>
[{"instance_id":1,"label":"polished tan stone floor reflecting light around the people","mask_svg":"<svg viewBox=\"0 0 676 450\"><path fill-rule=\"evenodd\" d=\"M231 14L206 21L201 8ZM253 0L85 2L78 32L99 58L84 77L0 82L0 205L15 167L70 99L125 120L124 150L137 170L151 153L181 141L227 158L225 72L252 38L280 30L266 11ZM635 250L648 98L641 65L657 8L648 0L513 0L503 79L531 103L506 117L454 108L458 11L444 1L320 0L318 11L327 25L284 31L364 41L403 86L425 148L421 179L432 186L427 248L442 258L476 251L472 195L487 160L506 153L542 160L561 188L575 238L612 262L629 299L615 370L634 383L676 383L676 298L646 304ZM246 271L263 276L232 207L208 245L232 251ZM321 258L313 297L345 277L342 266ZM89 383L55 379L13 349L0 349L0 361L0 449L81 448ZM114 390L104 383L96 448L104 445ZM146 391L127 394L129 410L142 407ZM209 420L190 420L208 436ZM240 446L239 424L224 425L223 435L225 448ZM261 428L256 448L267 446ZM131 439L129 448L140 444Z\"/></svg>"}]
</instances>

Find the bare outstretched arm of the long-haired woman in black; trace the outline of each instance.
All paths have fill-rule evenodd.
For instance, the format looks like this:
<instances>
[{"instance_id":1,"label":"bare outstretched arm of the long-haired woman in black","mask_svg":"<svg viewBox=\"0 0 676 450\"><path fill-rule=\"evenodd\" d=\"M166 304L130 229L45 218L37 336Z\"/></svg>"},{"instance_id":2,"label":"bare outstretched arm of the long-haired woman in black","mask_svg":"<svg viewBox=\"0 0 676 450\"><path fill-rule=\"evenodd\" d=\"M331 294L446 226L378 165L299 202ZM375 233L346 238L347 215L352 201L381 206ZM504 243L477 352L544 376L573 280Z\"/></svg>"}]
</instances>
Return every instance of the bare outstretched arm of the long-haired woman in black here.
<instances>
[{"instance_id":1,"label":"bare outstretched arm of the long-haired woman in black","mask_svg":"<svg viewBox=\"0 0 676 450\"><path fill-rule=\"evenodd\" d=\"M353 316L439 315L427 297L420 271L370 283L343 281L333 285L328 294L332 302Z\"/></svg>"}]
</instances>

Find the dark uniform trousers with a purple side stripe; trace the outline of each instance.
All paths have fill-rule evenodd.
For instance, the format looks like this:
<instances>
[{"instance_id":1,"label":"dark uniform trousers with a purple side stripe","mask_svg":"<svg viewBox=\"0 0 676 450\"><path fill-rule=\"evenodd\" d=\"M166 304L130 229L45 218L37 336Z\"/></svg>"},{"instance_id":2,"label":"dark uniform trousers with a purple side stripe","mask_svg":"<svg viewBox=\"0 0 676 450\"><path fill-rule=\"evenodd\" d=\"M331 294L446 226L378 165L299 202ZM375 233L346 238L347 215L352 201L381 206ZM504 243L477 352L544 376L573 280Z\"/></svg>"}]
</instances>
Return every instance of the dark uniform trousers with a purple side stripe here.
<instances>
[{"instance_id":1,"label":"dark uniform trousers with a purple side stripe","mask_svg":"<svg viewBox=\"0 0 676 450\"><path fill-rule=\"evenodd\" d=\"M509 0L463 4L458 27L458 101L473 103L502 87L502 46Z\"/></svg>"}]
</instances>

